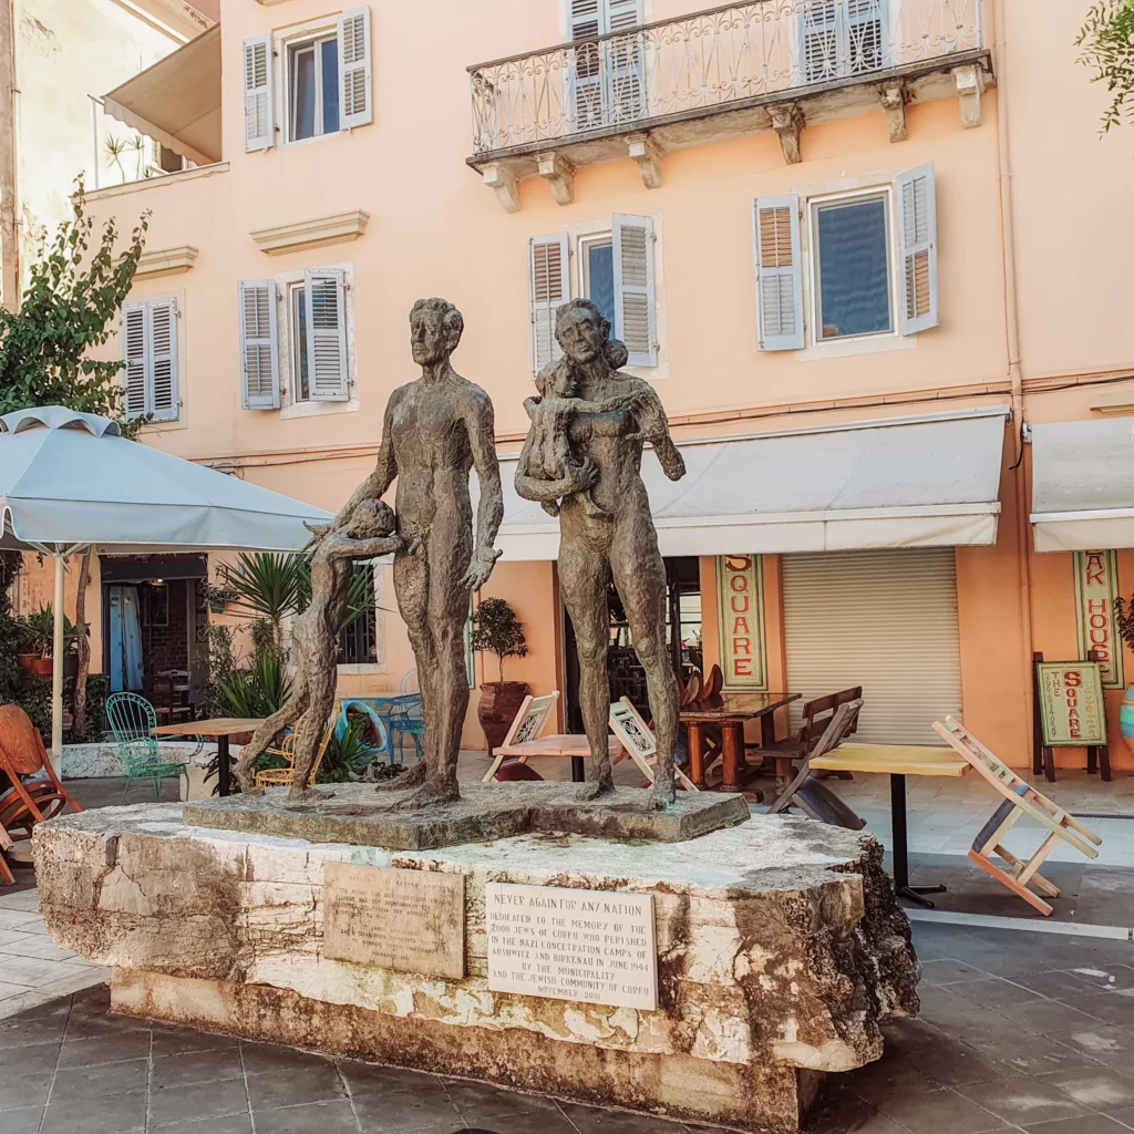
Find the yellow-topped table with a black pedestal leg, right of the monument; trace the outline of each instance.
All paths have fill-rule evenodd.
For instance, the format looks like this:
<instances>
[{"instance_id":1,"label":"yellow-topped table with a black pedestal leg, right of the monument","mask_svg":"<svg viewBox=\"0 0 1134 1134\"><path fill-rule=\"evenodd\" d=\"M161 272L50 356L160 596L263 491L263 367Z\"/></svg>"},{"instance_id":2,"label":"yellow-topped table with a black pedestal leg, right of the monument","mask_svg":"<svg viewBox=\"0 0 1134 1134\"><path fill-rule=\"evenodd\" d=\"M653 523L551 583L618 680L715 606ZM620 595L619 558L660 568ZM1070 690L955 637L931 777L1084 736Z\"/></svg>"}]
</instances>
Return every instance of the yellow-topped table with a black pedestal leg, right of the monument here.
<instances>
[{"instance_id":1,"label":"yellow-topped table with a black pedestal leg, right of the monument","mask_svg":"<svg viewBox=\"0 0 1134 1134\"><path fill-rule=\"evenodd\" d=\"M911 886L906 837L906 777L964 776L968 762L954 748L920 744L840 744L811 761L811 771L878 772L890 777L890 824L894 832L894 888L900 897L933 908L926 894L943 894L943 886Z\"/></svg>"}]
</instances>

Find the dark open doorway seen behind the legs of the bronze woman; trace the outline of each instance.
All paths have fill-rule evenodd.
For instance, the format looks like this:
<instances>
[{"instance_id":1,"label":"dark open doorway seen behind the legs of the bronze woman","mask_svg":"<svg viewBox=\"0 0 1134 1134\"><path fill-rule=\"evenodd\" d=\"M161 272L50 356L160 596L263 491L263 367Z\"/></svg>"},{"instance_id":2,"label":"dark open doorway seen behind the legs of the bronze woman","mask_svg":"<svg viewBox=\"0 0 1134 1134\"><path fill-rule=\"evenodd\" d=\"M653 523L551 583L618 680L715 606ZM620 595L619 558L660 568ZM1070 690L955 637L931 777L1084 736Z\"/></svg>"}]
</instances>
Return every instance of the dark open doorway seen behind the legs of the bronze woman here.
<instances>
[{"instance_id":1,"label":"dark open doorway seen behind the legs of the bronze woman","mask_svg":"<svg viewBox=\"0 0 1134 1134\"><path fill-rule=\"evenodd\" d=\"M626 612L613 585L607 587L609 638L607 676L610 700L629 697L646 720L650 699L646 696L645 671L638 665ZM575 628L567 610L564 619L564 693L567 731L583 731L583 712L578 703L578 646ZM674 671L686 680L694 669L701 669L701 568L696 556L666 559L666 642Z\"/></svg>"}]
</instances>

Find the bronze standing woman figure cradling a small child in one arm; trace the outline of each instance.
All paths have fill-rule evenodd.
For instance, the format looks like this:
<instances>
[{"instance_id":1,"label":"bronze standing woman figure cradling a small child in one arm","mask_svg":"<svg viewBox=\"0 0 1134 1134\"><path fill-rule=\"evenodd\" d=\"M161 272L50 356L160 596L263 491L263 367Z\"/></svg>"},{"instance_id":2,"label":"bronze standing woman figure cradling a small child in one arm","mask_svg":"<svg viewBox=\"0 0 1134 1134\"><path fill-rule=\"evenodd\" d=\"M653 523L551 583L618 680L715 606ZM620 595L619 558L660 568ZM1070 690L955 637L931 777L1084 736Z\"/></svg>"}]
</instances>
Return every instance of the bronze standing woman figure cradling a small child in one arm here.
<instances>
[{"instance_id":1,"label":"bronze standing woman figure cradling a small child in one arm","mask_svg":"<svg viewBox=\"0 0 1134 1134\"><path fill-rule=\"evenodd\" d=\"M581 408L568 425L577 462L569 463L559 480L547 480L545 469L532 468L522 455L516 491L527 500L560 503L559 585L578 643L579 700L593 767L591 794L613 789L607 747L607 586L613 579L646 675L658 736L652 803L663 807L675 798L677 677L666 644L666 566L642 483L643 442L653 441L671 481L685 475L685 463L657 393L649 383L616 369L625 352L610 340L610 324L593 303L564 304L556 313L556 338L564 358L551 365L573 369L576 397L589 403L624 399L625 407L601 413ZM544 382L541 389L551 386ZM533 420L533 430L536 426Z\"/></svg>"}]
</instances>

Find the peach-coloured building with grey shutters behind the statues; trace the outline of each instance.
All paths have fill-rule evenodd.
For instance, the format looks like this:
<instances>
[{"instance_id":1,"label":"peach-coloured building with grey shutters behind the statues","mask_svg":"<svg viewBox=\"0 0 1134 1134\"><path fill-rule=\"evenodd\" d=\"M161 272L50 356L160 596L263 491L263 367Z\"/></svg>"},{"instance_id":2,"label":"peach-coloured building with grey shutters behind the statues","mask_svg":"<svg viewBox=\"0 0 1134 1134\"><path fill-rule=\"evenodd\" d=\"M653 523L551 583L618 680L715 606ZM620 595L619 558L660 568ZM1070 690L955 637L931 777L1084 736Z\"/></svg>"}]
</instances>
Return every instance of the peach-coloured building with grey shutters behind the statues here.
<instances>
[{"instance_id":1,"label":"peach-coloured building with grey shutters behind the statues","mask_svg":"<svg viewBox=\"0 0 1134 1134\"><path fill-rule=\"evenodd\" d=\"M1098 137L1086 0L691 8L221 0L208 39L116 94L198 163L91 195L120 223L153 213L116 347L146 443L337 508L414 376L411 304L451 299L455 364L496 406L485 594L532 648L508 676L570 717L556 524L508 484L555 306L587 296L689 466L669 484L644 458L675 663L862 684L880 742L930 743L959 711L1022 765L1033 651L1093 641L1134 765L1134 658L1124 678L1109 611L1092 621L1134 589L1134 135ZM618 613L612 676L636 696ZM345 650L344 688L413 665L382 610Z\"/></svg>"}]
</instances>

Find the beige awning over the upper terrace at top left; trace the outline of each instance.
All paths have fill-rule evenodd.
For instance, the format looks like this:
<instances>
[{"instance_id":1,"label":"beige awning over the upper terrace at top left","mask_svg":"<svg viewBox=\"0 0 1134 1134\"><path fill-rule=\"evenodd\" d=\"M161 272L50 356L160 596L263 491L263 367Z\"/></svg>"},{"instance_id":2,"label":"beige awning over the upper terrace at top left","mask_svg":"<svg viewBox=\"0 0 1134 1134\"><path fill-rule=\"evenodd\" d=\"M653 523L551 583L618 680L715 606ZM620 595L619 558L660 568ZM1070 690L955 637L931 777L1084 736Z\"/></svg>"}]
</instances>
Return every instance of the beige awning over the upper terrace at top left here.
<instances>
[{"instance_id":1,"label":"beige awning over the upper terrace at top left","mask_svg":"<svg viewBox=\"0 0 1134 1134\"><path fill-rule=\"evenodd\" d=\"M220 24L102 98L108 115L197 166L220 161Z\"/></svg>"}]
</instances>

